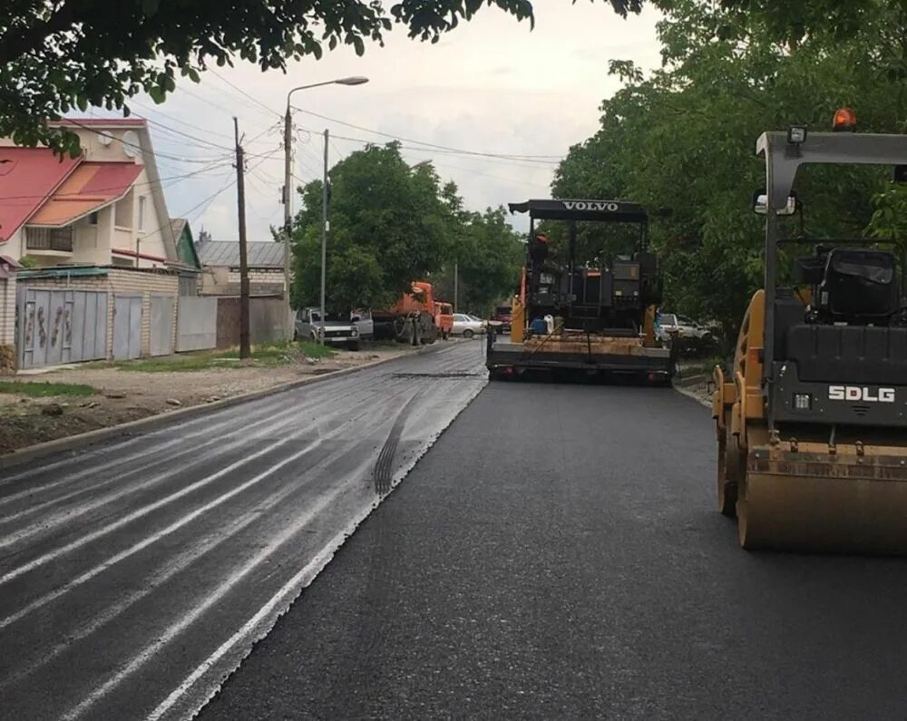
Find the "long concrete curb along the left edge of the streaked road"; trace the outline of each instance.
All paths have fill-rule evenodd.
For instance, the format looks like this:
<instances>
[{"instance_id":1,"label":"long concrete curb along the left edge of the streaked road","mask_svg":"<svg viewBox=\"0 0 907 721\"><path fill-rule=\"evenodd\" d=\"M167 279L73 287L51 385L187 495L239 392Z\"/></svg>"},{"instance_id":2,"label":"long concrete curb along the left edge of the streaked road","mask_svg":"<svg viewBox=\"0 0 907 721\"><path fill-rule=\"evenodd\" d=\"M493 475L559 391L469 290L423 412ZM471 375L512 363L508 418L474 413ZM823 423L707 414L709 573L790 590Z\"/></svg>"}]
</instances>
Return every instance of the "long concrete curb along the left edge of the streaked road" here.
<instances>
[{"instance_id":1,"label":"long concrete curb along the left edge of the streaked road","mask_svg":"<svg viewBox=\"0 0 907 721\"><path fill-rule=\"evenodd\" d=\"M343 375L351 375L358 373L359 371L364 371L368 368L374 368L377 365L385 365L386 363L400 360L401 358L410 356L425 356L432 353L438 353L452 347L455 346L424 346L422 348L419 348L419 350L415 351L415 353L413 354L395 356L393 358L382 358L381 360L376 360L372 363L356 365L356 367L354 368L342 368L341 370L331 371L330 373L325 373L322 375L312 375L307 378L300 378L296 381L288 381L287 383L282 383L280 385L273 385L270 388L264 388L260 391L252 391L250 393L245 393L242 395L232 395L229 398L223 398L222 400L214 401L213 403L190 405L186 408L178 408L175 411L167 411L161 414L149 415L147 418L140 418L137 421L130 421L129 423L125 424L111 425L106 428L98 428L95 431L88 431L87 433L83 434L69 435L65 438L57 438L54 441L36 443L26 448L21 448L18 451L14 451L13 453L0 455L0 471L5 471L6 469L22 465L23 463L36 461L48 455L53 455L54 453L63 453L64 451L73 451L75 449L86 450L92 445L102 443L103 441L109 441L112 438L117 438L123 435L136 434L143 431L151 431L153 429L160 428L161 426L168 425L176 421L186 420L197 415L204 415L212 411L217 411L221 408L229 408L232 405L239 405L248 403L249 401L258 400L259 398L266 398L268 397L268 395L277 395L278 393L291 391L296 388L301 388L305 385L321 383L323 381L338 378Z\"/></svg>"}]
</instances>

